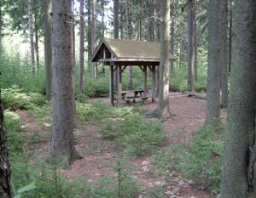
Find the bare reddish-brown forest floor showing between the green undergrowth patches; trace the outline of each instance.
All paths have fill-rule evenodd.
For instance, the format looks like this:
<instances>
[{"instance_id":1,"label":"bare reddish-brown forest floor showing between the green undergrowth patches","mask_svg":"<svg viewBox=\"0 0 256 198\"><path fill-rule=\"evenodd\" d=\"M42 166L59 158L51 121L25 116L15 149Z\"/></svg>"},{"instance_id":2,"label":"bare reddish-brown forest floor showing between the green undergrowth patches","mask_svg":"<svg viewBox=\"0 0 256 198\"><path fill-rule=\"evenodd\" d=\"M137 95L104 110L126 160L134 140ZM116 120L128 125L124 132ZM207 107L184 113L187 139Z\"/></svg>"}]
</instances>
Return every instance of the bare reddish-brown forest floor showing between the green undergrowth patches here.
<instances>
[{"instance_id":1,"label":"bare reddish-brown forest floor showing between the green undergrowth patches","mask_svg":"<svg viewBox=\"0 0 256 198\"><path fill-rule=\"evenodd\" d=\"M170 108L172 110L172 118L164 122L166 128L166 145L170 146L175 143L186 144L189 142L191 135L198 128L201 127L205 119L205 105L204 99L189 98L184 93L170 93ZM91 99L90 101L94 101ZM97 99L103 103L108 103L108 99ZM154 110L156 104L145 103L142 108ZM36 123L35 119L26 111L18 111L26 134L30 135L32 132L44 133L44 130ZM224 113L222 112L224 117ZM183 133L179 134L178 131ZM96 183L105 175L116 177L113 172L113 163L124 155L122 151L116 150L112 142L102 139L102 134L97 131L93 122L79 126L75 129L75 146L79 150L80 156L83 158L75 161L69 170L60 170L64 173L67 179L73 180L75 178L84 177L90 183ZM48 135L49 136L49 135ZM37 144L33 144L30 150L38 150L38 153L45 157L49 153L49 139L45 137ZM189 181L181 178L178 173L170 171L172 179L166 181L163 177L153 176L150 172L150 156L143 156L131 158L127 163L136 167L136 172L132 177L145 186L145 190L149 190L155 186L164 186L166 190L166 197L170 198L214 198L215 196L206 191L199 190L195 185L190 184ZM143 192L137 197L146 197Z\"/></svg>"}]
</instances>

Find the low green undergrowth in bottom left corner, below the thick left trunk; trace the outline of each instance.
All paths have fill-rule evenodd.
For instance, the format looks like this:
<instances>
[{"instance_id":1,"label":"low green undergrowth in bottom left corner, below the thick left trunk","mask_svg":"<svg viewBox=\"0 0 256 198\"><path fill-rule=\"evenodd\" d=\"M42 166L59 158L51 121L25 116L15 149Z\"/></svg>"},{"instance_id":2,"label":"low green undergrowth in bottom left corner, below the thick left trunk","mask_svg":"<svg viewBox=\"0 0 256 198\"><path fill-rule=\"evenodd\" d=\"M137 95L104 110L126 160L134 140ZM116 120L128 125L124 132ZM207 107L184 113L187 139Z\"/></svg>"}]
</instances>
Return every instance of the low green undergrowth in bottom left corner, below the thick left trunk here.
<instances>
[{"instance_id":1,"label":"low green undergrowth in bottom left corner, below the thick left trunk","mask_svg":"<svg viewBox=\"0 0 256 198\"><path fill-rule=\"evenodd\" d=\"M31 183L36 186L35 189L21 194L21 198L73 198L80 197L86 190L86 183L82 189L79 185L81 181L68 182L61 174L57 173L57 167L50 166L38 159L31 164L26 153L12 158L11 164L15 192Z\"/></svg>"}]
</instances>

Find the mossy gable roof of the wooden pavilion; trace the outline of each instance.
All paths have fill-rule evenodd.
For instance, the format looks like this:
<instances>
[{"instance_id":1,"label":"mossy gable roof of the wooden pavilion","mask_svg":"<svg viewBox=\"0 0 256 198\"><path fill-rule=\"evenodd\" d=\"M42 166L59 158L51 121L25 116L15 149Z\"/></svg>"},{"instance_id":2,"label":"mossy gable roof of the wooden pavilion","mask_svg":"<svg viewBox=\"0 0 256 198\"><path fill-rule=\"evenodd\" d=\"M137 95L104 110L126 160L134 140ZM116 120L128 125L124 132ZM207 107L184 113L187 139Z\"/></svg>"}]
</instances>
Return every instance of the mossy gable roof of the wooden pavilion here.
<instances>
[{"instance_id":1,"label":"mossy gable roof of the wooden pavilion","mask_svg":"<svg viewBox=\"0 0 256 198\"><path fill-rule=\"evenodd\" d=\"M104 38L91 57L92 62L97 61L97 54L101 53L105 45L113 54L115 61L160 61L160 42L131 41ZM173 56L171 59L175 59Z\"/></svg>"}]
</instances>

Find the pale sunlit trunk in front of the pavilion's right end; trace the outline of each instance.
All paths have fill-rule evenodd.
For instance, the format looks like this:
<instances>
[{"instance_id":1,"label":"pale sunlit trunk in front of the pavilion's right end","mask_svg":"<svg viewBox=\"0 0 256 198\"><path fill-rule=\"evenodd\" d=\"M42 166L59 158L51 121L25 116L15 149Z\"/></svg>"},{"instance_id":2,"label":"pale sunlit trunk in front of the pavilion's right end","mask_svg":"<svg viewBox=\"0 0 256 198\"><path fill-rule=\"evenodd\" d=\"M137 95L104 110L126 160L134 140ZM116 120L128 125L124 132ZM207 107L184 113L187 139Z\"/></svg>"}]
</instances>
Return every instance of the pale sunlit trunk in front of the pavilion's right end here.
<instances>
[{"instance_id":1,"label":"pale sunlit trunk in front of the pavilion's right end","mask_svg":"<svg viewBox=\"0 0 256 198\"><path fill-rule=\"evenodd\" d=\"M161 27L160 47L160 119L166 120L171 116L169 107L169 66L170 66L170 3L164 0L164 15Z\"/></svg>"}]
</instances>

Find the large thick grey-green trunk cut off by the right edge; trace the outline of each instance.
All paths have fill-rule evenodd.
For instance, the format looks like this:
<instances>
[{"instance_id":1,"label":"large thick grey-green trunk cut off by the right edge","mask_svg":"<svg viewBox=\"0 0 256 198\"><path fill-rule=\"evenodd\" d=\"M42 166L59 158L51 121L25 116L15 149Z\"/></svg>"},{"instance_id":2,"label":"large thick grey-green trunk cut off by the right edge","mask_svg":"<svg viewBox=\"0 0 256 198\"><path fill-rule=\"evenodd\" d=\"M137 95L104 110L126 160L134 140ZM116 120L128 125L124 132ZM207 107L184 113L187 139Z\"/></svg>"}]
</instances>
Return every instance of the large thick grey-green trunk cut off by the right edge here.
<instances>
[{"instance_id":1,"label":"large thick grey-green trunk cut off by the right edge","mask_svg":"<svg viewBox=\"0 0 256 198\"><path fill-rule=\"evenodd\" d=\"M233 59L221 198L256 197L256 2L235 1Z\"/></svg>"}]
</instances>

